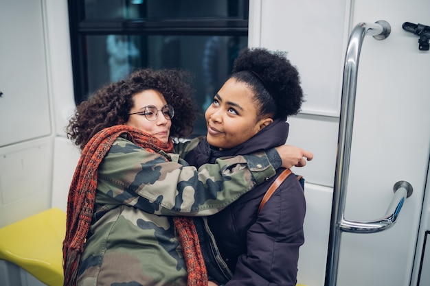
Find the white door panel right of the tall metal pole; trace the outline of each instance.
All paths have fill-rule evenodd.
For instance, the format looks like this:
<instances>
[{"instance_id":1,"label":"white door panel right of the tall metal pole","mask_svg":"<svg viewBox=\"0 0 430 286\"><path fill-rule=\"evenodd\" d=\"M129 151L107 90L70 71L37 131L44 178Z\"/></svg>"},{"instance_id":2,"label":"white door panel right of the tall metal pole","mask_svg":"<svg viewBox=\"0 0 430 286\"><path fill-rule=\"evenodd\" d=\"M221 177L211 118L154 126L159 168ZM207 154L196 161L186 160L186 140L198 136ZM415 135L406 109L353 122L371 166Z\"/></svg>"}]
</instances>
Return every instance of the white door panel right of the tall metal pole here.
<instances>
[{"instance_id":1,"label":"white door panel right of the tall metal pole","mask_svg":"<svg viewBox=\"0 0 430 286\"><path fill-rule=\"evenodd\" d=\"M414 187L396 225L372 235L343 234L338 285L409 285L430 150L429 52L405 21L429 20L429 1L355 1L353 23L385 20L383 41L366 36L361 50L346 218L382 217L393 185ZM365 275L358 275L365 274ZM353 279L352 279L353 277Z\"/></svg>"}]
</instances>

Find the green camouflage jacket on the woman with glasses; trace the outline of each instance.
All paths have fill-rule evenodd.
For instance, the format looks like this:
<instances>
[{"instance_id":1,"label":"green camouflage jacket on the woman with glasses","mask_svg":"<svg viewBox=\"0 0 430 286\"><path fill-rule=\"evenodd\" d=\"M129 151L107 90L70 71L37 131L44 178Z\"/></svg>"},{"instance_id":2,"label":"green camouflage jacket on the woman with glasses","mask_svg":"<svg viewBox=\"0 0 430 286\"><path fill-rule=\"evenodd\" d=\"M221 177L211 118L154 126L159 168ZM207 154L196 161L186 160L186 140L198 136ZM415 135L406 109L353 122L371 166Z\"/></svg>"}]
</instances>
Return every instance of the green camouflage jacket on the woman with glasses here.
<instances>
[{"instance_id":1,"label":"green camouflage jacket on the woman with glasses","mask_svg":"<svg viewBox=\"0 0 430 286\"><path fill-rule=\"evenodd\" d=\"M199 169L162 155L120 137L102 160L78 285L187 285L172 217L161 215L212 215L275 175L264 152Z\"/></svg>"}]
</instances>

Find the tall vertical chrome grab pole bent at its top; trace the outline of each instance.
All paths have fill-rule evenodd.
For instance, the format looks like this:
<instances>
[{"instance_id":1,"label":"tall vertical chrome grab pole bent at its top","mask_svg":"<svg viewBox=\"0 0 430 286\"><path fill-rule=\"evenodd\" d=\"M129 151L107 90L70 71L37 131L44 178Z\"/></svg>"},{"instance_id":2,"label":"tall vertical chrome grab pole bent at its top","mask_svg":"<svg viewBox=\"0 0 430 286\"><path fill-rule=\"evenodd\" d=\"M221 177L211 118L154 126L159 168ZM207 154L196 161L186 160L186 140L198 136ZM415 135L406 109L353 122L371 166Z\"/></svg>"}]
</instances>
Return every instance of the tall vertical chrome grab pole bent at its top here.
<instances>
[{"instance_id":1,"label":"tall vertical chrome grab pole bent at its top","mask_svg":"<svg viewBox=\"0 0 430 286\"><path fill-rule=\"evenodd\" d=\"M376 23L359 23L350 35L343 68L343 87L341 98L341 113L339 122L339 138L337 146L337 162L335 184L333 187L332 217L330 223L330 237L328 240L328 254L326 265L326 286L337 283L337 269L339 264L339 250L341 233L346 228L343 213L346 202L346 187L350 167L352 142L352 122L354 119L355 95L357 91L357 72L359 56L364 36L370 35L376 40L383 40L391 33L391 26L386 21ZM344 227L341 228L341 225Z\"/></svg>"}]
</instances>

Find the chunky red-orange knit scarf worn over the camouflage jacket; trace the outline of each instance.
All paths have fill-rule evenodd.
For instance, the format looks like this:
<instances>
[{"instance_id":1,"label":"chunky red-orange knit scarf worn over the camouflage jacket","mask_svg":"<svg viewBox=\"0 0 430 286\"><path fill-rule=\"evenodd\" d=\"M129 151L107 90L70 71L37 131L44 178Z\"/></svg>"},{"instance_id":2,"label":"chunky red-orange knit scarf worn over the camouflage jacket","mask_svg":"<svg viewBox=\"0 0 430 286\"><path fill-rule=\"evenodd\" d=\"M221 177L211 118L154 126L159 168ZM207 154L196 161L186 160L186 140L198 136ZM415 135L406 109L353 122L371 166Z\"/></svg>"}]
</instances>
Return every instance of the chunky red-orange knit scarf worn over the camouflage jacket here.
<instances>
[{"instance_id":1,"label":"chunky red-orange knit scarf worn over the camouflage jacket","mask_svg":"<svg viewBox=\"0 0 430 286\"><path fill-rule=\"evenodd\" d=\"M154 136L129 126L112 126L95 134L85 145L71 181L67 201L66 237L63 242L64 285L76 285L78 268L84 243L93 217L95 190L98 181L98 166L121 134L144 147L148 152L172 152L173 144L162 143ZM187 265L188 285L207 285L207 272L201 254L199 239L192 219L174 217L179 240Z\"/></svg>"}]
</instances>

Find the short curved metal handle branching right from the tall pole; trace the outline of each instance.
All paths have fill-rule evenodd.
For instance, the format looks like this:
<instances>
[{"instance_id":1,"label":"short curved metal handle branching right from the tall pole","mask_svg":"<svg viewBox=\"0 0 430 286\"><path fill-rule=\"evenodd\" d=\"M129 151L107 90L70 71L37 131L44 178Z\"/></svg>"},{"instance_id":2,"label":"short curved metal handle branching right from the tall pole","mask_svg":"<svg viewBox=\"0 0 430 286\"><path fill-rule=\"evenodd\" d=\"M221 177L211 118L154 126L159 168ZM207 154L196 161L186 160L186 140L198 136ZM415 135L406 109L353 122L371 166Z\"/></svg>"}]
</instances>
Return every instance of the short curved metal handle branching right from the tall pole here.
<instances>
[{"instance_id":1,"label":"short curved metal handle branching right from the tall pole","mask_svg":"<svg viewBox=\"0 0 430 286\"><path fill-rule=\"evenodd\" d=\"M370 222L354 222L343 219L340 224L341 230L346 233L378 233L391 228L396 223L403 202L412 195L412 192L413 188L409 182L396 182L396 184L394 184L394 197L383 217Z\"/></svg>"}]
</instances>

